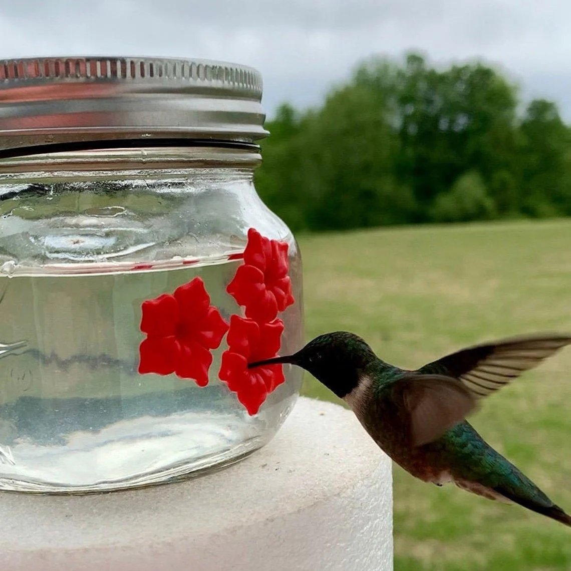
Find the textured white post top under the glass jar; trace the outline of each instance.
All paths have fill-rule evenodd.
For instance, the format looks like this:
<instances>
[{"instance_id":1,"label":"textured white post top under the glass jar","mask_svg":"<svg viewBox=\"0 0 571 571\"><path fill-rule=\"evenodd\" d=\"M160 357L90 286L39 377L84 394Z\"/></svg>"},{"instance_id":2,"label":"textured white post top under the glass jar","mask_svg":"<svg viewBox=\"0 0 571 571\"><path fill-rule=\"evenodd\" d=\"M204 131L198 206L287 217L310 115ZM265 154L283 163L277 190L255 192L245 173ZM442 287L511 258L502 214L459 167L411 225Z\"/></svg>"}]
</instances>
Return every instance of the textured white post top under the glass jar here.
<instances>
[{"instance_id":1,"label":"textured white post top under the glass jar","mask_svg":"<svg viewBox=\"0 0 571 571\"><path fill-rule=\"evenodd\" d=\"M301 398L223 471L90 496L0 492L2 571L385 571L391 463L353 414Z\"/></svg>"}]
</instances>

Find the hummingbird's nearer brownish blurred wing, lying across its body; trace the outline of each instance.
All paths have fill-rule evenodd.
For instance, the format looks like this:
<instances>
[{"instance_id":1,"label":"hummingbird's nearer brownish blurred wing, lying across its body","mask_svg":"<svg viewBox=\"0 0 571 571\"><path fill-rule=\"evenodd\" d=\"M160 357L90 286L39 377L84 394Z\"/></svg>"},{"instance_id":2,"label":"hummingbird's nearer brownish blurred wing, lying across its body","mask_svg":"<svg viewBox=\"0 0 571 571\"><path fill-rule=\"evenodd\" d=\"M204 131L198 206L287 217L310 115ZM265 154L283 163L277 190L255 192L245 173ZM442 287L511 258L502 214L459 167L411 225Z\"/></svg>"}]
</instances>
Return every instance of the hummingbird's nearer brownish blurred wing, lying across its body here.
<instances>
[{"instance_id":1,"label":"hummingbird's nearer brownish blurred wing, lying across its body","mask_svg":"<svg viewBox=\"0 0 571 571\"><path fill-rule=\"evenodd\" d=\"M443 375L407 373L392 385L392 397L409 414L413 446L436 440L476 407L464 385Z\"/></svg>"}]
</instances>

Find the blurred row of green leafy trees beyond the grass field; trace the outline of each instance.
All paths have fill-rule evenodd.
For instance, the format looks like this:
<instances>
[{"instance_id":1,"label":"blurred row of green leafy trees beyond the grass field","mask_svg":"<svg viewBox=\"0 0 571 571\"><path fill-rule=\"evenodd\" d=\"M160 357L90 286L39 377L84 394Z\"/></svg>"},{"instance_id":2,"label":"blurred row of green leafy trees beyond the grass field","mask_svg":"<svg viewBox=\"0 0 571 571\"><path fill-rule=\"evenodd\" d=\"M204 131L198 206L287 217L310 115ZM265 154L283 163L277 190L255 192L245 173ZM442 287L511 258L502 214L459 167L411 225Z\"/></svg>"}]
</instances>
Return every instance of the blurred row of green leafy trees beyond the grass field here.
<instances>
[{"instance_id":1,"label":"blurred row of green leafy trees beyond the grass field","mask_svg":"<svg viewBox=\"0 0 571 571\"><path fill-rule=\"evenodd\" d=\"M571 128L484 63L373 57L266 126L256 187L292 230L571 215Z\"/></svg>"}]
</instances>

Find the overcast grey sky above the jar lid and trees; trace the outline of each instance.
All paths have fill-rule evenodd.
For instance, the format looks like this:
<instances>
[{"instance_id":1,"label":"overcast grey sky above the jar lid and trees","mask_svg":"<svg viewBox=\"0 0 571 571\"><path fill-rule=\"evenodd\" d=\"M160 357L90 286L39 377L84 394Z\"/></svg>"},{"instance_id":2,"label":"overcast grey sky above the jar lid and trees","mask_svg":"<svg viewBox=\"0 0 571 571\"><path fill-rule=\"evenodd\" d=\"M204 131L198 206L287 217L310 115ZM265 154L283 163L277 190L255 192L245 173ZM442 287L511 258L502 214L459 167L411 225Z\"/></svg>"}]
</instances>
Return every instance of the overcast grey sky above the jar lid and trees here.
<instances>
[{"instance_id":1,"label":"overcast grey sky above the jar lid and trees","mask_svg":"<svg viewBox=\"0 0 571 571\"><path fill-rule=\"evenodd\" d=\"M0 0L0 58L162 55L251 65L268 115L316 105L371 54L480 57L571 120L569 0Z\"/></svg>"}]
</instances>

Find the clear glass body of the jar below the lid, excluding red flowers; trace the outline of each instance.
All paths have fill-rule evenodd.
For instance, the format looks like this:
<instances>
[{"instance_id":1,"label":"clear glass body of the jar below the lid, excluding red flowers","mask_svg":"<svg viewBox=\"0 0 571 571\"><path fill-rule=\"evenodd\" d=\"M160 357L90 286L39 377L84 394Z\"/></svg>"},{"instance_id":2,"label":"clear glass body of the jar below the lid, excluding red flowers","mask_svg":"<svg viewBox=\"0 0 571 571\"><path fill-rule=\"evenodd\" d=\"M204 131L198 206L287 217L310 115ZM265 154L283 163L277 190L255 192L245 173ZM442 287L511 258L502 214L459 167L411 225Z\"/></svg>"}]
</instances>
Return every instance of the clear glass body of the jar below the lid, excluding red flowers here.
<instances>
[{"instance_id":1,"label":"clear glass body of the jar below the lid, excluding red flowers","mask_svg":"<svg viewBox=\"0 0 571 571\"><path fill-rule=\"evenodd\" d=\"M138 373L142 303L194 279L222 317L247 232L287 242L295 303L283 353L303 343L301 265L256 194L255 151L187 147L12 160L0 174L0 489L89 492L231 463L267 443L301 373L248 415L218 379Z\"/></svg>"}]
</instances>

